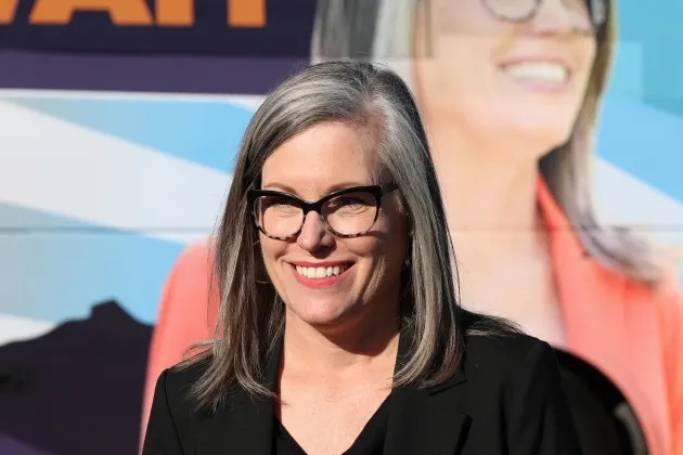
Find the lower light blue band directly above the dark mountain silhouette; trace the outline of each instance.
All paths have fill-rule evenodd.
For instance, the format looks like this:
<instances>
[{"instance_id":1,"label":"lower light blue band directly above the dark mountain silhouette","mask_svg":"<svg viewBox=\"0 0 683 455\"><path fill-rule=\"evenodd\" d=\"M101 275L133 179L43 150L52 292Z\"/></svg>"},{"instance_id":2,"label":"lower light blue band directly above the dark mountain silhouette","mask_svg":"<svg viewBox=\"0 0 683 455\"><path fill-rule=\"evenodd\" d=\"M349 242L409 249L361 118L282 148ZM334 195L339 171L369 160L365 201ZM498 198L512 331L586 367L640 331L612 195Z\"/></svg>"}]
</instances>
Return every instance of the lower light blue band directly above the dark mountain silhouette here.
<instances>
[{"instance_id":1,"label":"lower light blue band directly above the dark mountain silhouette","mask_svg":"<svg viewBox=\"0 0 683 455\"><path fill-rule=\"evenodd\" d=\"M39 229L42 226L42 229ZM180 244L0 204L0 312L59 323L116 298L153 324Z\"/></svg>"}]
</instances>

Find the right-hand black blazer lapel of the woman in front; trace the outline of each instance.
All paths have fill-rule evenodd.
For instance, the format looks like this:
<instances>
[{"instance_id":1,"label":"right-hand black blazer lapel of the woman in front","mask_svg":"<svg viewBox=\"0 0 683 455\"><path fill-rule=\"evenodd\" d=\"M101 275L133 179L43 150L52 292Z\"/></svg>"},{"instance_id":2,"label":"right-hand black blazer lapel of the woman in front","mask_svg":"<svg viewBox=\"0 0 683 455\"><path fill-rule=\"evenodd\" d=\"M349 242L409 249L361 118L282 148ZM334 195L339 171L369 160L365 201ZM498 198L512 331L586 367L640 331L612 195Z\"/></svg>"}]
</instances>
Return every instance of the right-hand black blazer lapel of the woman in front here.
<instances>
[{"instance_id":1,"label":"right-hand black blazer lapel of the woman in front","mask_svg":"<svg viewBox=\"0 0 683 455\"><path fill-rule=\"evenodd\" d=\"M412 342L409 333L399 339L399 360ZM399 366L397 362L397 367ZM464 443L472 419L459 411L458 385L466 380L462 368L451 380L430 389L397 388L389 398L389 418L384 454L453 455Z\"/></svg>"}]
</instances>

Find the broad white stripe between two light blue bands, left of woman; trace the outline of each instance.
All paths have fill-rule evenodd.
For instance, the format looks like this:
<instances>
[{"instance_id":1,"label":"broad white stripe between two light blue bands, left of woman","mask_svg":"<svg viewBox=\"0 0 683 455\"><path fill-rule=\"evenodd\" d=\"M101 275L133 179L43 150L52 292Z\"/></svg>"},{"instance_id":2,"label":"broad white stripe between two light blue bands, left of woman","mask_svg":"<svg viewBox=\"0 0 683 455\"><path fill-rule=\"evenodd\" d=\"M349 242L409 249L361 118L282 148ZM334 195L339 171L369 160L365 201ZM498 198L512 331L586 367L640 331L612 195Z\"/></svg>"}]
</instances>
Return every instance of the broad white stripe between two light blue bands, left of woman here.
<instances>
[{"instance_id":1,"label":"broad white stripe between two light blue bands, left of woman","mask_svg":"<svg viewBox=\"0 0 683 455\"><path fill-rule=\"evenodd\" d=\"M214 227L230 176L0 101L0 202L180 243Z\"/></svg>"}]
</instances>

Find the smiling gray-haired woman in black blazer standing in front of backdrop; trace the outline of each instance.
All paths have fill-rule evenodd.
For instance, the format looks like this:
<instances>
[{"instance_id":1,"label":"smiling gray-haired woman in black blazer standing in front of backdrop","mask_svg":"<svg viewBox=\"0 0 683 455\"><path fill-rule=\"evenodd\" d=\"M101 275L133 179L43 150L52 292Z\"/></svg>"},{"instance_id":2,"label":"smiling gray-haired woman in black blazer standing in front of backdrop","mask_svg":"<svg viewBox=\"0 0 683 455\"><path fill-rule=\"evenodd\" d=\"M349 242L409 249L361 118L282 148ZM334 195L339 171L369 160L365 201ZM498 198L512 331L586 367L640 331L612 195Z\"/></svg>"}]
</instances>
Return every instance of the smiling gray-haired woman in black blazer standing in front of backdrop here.
<instances>
[{"instance_id":1,"label":"smiling gray-haired woman in black blazer standing in front of backdrop","mask_svg":"<svg viewBox=\"0 0 683 455\"><path fill-rule=\"evenodd\" d=\"M462 311L453 263L401 79L289 77L242 142L216 337L159 377L143 454L579 453L552 349Z\"/></svg>"}]
</instances>

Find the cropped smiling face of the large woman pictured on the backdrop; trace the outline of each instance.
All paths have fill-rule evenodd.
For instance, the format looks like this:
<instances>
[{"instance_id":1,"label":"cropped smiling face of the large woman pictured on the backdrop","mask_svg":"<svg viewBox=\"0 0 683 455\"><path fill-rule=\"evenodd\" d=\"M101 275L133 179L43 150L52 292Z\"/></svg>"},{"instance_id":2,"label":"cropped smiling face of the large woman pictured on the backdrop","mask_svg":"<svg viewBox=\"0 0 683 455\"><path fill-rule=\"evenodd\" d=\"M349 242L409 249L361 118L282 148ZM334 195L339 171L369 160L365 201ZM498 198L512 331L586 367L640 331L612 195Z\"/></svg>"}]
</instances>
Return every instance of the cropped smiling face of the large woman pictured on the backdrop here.
<instances>
[{"instance_id":1,"label":"cropped smiling face of the large woman pictured on the backdrop","mask_svg":"<svg viewBox=\"0 0 683 455\"><path fill-rule=\"evenodd\" d=\"M429 121L524 140L537 153L566 142L596 51L587 0L541 0L519 23L497 18L485 0L420 1L414 70ZM510 3L529 1L488 4Z\"/></svg>"}]
</instances>

